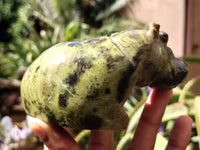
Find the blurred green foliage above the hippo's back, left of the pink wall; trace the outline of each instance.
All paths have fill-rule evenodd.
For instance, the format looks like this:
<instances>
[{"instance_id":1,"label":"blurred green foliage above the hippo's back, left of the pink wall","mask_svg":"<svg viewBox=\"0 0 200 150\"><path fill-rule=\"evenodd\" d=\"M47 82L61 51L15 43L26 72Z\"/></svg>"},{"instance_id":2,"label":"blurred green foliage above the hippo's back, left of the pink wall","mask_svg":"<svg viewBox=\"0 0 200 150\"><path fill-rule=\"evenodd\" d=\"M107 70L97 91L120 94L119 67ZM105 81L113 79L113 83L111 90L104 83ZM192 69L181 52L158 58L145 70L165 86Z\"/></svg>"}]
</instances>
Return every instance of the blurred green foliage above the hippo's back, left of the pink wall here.
<instances>
[{"instance_id":1,"label":"blurred green foliage above the hippo's back, left of the pink wall","mask_svg":"<svg viewBox=\"0 0 200 150\"><path fill-rule=\"evenodd\" d=\"M29 66L44 50L56 43L85 40L127 27L144 26L116 19L111 14L111 17L102 19L99 28L95 27L98 21L87 24L86 20L94 19L94 14L102 13L115 1L118 0L107 1L106 4L104 0L86 3L80 0L0 1L0 77L17 77L20 67ZM94 5L98 10L94 9ZM89 13L92 16L81 13L88 7L93 8Z\"/></svg>"}]
</instances>

